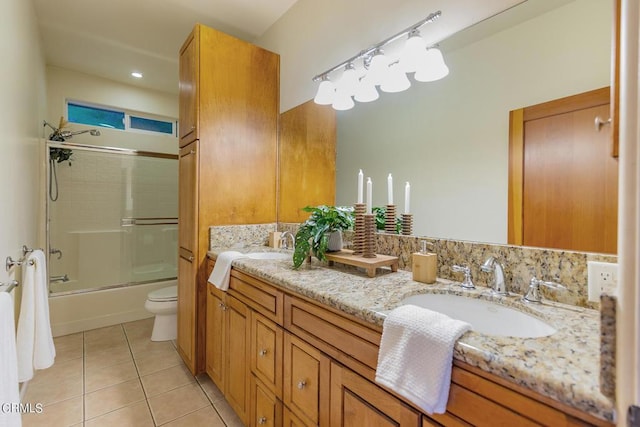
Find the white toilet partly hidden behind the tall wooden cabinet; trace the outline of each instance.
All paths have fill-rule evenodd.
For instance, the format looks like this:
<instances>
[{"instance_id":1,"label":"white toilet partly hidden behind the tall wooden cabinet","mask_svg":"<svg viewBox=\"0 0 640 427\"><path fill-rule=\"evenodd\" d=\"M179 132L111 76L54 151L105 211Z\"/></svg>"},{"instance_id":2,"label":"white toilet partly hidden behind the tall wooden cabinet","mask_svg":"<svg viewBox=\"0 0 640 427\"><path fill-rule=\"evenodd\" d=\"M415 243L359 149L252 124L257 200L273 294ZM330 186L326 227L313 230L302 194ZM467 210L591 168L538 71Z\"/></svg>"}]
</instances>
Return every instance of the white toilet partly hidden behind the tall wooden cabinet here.
<instances>
[{"instance_id":1,"label":"white toilet partly hidden behind the tall wooden cabinet","mask_svg":"<svg viewBox=\"0 0 640 427\"><path fill-rule=\"evenodd\" d=\"M169 341L178 335L178 286L149 292L144 308L155 314L151 341Z\"/></svg>"}]
</instances>

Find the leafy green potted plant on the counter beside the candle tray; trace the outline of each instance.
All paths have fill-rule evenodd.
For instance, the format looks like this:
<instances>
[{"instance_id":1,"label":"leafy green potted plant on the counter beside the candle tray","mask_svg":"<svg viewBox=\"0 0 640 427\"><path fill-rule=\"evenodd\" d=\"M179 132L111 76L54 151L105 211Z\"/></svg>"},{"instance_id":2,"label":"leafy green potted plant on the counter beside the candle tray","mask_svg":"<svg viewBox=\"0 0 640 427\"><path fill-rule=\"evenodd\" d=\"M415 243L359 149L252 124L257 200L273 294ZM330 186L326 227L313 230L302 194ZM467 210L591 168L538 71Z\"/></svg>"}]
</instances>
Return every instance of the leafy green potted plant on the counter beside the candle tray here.
<instances>
[{"instance_id":1,"label":"leafy green potted plant on the counter beside the candle tray","mask_svg":"<svg viewBox=\"0 0 640 427\"><path fill-rule=\"evenodd\" d=\"M319 260L325 261L325 253L329 251L329 235L353 228L353 207L320 205L306 206L302 210L311 212L311 216L302 223L296 233L294 268L302 265L309 252Z\"/></svg>"}]
</instances>

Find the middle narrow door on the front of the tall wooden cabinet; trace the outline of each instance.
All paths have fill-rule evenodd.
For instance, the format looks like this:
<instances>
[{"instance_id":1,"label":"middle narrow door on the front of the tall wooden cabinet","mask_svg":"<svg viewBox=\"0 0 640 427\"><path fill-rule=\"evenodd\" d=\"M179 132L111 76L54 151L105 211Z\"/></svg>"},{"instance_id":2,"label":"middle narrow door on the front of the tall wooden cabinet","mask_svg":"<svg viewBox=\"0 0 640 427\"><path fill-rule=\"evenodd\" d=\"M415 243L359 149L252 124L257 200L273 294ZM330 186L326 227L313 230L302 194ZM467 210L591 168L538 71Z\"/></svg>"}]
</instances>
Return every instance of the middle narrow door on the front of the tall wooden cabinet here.
<instances>
[{"instance_id":1,"label":"middle narrow door on the front of the tall wooden cabinet","mask_svg":"<svg viewBox=\"0 0 640 427\"><path fill-rule=\"evenodd\" d=\"M178 245L197 255L198 141L180 149L178 206Z\"/></svg>"}]
</instances>

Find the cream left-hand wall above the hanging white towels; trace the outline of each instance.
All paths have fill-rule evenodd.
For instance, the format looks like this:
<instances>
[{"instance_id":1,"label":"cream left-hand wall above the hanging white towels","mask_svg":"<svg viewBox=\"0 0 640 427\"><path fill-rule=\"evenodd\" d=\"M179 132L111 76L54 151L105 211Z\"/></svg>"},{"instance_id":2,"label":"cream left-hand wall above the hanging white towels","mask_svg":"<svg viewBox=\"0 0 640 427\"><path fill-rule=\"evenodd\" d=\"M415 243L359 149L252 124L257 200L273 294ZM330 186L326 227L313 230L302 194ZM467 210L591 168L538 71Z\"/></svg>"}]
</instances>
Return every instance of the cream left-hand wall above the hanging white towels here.
<instances>
[{"instance_id":1,"label":"cream left-hand wall above the hanging white towels","mask_svg":"<svg viewBox=\"0 0 640 427\"><path fill-rule=\"evenodd\" d=\"M45 115L45 67L31 1L0 2L0 258L19 258L38 236L39 136ZM13 278L19 269L0 281ZM19 279L19 277L17 277Z\"/></svg>"}]
</instances>

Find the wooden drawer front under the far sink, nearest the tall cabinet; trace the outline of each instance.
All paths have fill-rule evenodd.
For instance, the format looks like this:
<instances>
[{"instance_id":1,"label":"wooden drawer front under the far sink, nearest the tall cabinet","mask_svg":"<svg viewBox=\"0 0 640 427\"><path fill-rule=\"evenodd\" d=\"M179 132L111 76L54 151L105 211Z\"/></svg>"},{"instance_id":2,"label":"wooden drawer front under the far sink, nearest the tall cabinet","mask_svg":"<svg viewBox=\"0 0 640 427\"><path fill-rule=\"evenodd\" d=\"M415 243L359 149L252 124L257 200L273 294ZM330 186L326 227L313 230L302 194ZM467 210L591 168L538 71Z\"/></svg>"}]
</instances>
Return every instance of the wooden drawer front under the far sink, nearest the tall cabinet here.
<instances>
[{"instance_id":1,"label":"wooden drawer front under the far sink, nearest the tall cabinet","mask_svg":"<svg viewBox=\"0 0 640 427\"><path fill-rule=\"evenodd\" d=\"M253 310L282 325L284 294L281 291L237 270L231 270L229 289L231 295Z\"/></svg>"}]
</instances>

